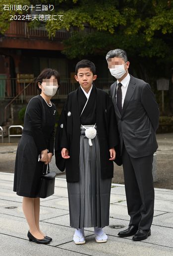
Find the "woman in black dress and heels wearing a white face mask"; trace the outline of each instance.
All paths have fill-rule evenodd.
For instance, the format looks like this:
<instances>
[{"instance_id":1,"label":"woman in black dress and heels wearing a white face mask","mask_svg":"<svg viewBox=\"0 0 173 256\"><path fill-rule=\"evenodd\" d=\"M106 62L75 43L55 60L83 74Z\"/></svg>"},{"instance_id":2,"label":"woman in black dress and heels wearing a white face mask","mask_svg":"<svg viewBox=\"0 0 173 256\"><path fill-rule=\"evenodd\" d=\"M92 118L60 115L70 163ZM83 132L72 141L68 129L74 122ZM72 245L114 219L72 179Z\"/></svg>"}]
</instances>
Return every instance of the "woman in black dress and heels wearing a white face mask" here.
<instances>
[{"instance_id":1,"label":"woman in black dress and heels wearing a white face mask","mask_svg":"<svg viewBox=\"0 0 173 256\"><path fill-rule=\"evenodd\" d=\"M54 154L56 107L51 98L58 90L58 71L45 68L37 77L36 84L40 95L33 97L26 109L24 129L16 153L13 191L23 196L22 208L29 225L29 241L48 244L52 238L47 237L39 227L38 193L43 168L51 162Z\"/></svg>"}]
</instances>

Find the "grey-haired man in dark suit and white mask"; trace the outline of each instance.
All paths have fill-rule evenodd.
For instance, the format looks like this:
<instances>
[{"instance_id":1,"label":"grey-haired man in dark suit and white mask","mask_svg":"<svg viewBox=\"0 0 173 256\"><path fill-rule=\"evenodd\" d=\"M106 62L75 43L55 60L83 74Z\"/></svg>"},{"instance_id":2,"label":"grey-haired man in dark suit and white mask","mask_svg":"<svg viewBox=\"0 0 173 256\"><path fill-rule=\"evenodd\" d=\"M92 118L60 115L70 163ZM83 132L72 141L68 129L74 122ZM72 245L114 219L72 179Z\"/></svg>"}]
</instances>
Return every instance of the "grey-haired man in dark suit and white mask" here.
<instances>
[{"instance_id":1,"label":"grey-haired man in dark suit and white mask","mask_svg":"<svg viewBox=\"0 0 173 256\"><path fill-rule=\"evenodd\" d=\"M106 60L117 81L111 85L119 130L120 156L124 172L130 223L120 237L140 241L151 235L154 214L153 153L157 150L159 108L151 87L128 73L129 62L121 49L110 51ZM119 162L119 159L118 159Z\"/></svg>"}]
</instances>

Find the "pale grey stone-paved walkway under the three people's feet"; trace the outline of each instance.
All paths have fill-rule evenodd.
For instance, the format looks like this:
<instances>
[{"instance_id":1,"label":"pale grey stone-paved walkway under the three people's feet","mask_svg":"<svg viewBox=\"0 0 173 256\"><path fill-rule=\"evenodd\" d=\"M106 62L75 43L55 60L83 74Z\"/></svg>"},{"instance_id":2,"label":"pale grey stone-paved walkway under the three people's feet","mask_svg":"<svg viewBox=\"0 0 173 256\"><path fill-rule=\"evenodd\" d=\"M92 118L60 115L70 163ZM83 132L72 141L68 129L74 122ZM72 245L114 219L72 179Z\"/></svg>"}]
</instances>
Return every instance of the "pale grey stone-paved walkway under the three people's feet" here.
<instances>
[{"instance_id":1,"label":"pale grey stone-paved walkway under the three people's feet","mask_svg":"<svg viewBox=\"0 0 173 256\"><path fill-rule=\"evenodd\" d=\"M128 226L125 190L113 184L108 242L97 244L93 229L86 228L86 244L75 245L69 226L66 181L56 178L55 194L41 200L41 228L53 237L50 245L37 245L27 238L28 225L22 212L22 197L12 192L13 174L0 173L0 255L1 256L173 256L173 190L155 189L152 235L144 241L119 238ZM117 226L117 229L115 228ZM119 228L121 227L122 228Z\"/></svg>"}]
</instances>

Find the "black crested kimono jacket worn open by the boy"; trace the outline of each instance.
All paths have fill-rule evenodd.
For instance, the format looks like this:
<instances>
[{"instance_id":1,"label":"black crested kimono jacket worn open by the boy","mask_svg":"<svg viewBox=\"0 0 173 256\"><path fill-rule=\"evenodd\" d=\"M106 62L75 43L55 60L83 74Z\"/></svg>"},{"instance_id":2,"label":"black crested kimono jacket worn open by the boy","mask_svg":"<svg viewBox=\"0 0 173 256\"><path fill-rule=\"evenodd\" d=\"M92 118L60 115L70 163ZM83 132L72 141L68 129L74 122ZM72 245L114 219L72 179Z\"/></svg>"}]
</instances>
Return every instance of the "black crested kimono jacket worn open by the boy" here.
<instances>
[{"instance_id":1,"label":"black crested kimono jacket worn open by the boy","mask_svg":"<svg viewBox=\"0 0 173 256\"><path fill-rule=\"evenodd\" d=\"M94 86L96 90L96 124L100 145L101 178L113 177L114 164L110 161L109 149L118 144L118 131L113 103L109 95ZM56 165L60 171L66 170L67 182L79 181L80 114L78 90L68 94L61 112L55 140ZM91 124L92 125L92 124ZM69 151L69 159L61 157L61 149Z\"/></svg>"}]
</instances>

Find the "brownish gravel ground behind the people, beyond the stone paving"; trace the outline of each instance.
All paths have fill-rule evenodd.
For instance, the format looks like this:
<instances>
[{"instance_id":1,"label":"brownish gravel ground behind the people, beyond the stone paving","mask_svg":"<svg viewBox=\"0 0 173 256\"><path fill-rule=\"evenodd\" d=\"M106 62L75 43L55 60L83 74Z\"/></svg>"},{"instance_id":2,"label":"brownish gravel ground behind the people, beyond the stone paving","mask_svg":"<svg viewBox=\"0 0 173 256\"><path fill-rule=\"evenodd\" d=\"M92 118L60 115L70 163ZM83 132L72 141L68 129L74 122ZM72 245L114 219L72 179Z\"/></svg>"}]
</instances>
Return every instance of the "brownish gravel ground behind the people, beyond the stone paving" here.
<instances>
[{"instance_id":1,"label":"brownish gravel ground behind the people, beyond the stone paving","mask_svg":"<svg viewBox=\"0 0 173 256\"><path fill-rule=\"evenodd\" d=\"M15 154L19 138L7 138L0 143L0 172L14 172ZM157 150L158 181L155 188L173 189L173 133L157 134L159 148ZM61 174L59 174L61 175ZM122 167L115 165L113 183L124 184Z\"/></svg>"}]
</instances>

